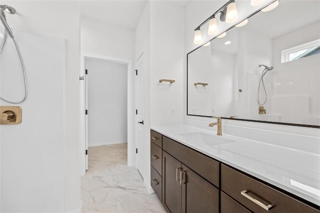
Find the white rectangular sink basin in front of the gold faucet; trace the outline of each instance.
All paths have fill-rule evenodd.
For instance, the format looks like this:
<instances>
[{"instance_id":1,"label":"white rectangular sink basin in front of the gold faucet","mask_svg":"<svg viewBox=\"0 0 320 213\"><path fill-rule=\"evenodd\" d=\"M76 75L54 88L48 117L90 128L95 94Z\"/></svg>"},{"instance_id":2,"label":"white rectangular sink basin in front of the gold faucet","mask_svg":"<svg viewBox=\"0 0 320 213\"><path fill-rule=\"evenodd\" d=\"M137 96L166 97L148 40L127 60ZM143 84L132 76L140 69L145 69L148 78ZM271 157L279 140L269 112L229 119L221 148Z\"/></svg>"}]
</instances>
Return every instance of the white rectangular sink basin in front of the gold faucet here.
<instances>
[{"instance_id":1,"label":"white rectangular sink basin in front of the gold faucet","mask_svg":"<svg viewBox=\"0 0 320 213\"><path fill-rule=\"evenodd\" d=\"M189 140L203 141L206 145L216 146L221 144L233 143L235 141L223 138L222 136L210 135L203 132L191 132L180 134Z\"/></svg>"}]
</instances>

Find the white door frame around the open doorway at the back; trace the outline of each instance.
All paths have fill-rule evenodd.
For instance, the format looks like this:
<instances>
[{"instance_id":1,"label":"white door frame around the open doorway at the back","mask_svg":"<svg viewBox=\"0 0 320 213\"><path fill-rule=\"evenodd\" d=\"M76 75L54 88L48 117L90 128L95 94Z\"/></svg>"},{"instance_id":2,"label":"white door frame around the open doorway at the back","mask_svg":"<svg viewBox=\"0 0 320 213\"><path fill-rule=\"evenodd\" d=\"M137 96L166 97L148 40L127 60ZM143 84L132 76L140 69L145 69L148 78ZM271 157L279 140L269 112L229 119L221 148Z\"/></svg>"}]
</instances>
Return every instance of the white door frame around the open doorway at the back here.
<instances>
[{"instance_id":1,"label":"white door frame around the open doorway at the back","mask_svg":"<svg viewBox=\"0 0 320 213\"><path fill-rule=\"evenodd\" d=\"M80 76L84 76L84 80L80 81L80 131L79 131L79 160L80 160L80 175L85 174L86 155L85 150L87 147L86 139L86 76L85 76L85 62L86 60L97 60L114 63L122 63L127 65L127 165L129 167L135 166L135 156L133 155L135 149L135 126L133 119L134 111L134 82L132 77L132 60L123 58L113 58L105 55L98 55L93 53L83 52L80 57Z\"/></svg>"}]
</instances>

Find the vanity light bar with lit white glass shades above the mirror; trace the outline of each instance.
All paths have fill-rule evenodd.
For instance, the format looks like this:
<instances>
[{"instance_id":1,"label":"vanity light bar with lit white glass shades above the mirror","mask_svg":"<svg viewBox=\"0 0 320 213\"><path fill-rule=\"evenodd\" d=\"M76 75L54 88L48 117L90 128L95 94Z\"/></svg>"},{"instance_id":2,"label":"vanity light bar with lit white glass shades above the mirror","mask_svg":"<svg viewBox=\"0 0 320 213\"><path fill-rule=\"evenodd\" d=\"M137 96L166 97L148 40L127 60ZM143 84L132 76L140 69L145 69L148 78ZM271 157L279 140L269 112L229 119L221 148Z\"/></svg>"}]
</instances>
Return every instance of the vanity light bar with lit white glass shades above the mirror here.
<instances>
[{"instance_id":1,"label":"vanity light bar with lit white glass shades above the mirror","mask_svg":"<svg viewBox=\"0 0 320 213\"><path fill-rule=\"evenodd\" d=\"M218 32L218 26L215 18L215 15L217 15L218 13L220 13L220 21L225 21L226 23L233 23L234 21L236 21L238 19L238 12L236 9L235 0L227 1L216 12L214 12L210 17L208 17L194 29L194 44L202 43L200 27L203 26L206 22L209 22L208 35L215 35ZM223 37L225 36L225 34L221 34L220 36Z\"/></svg>"}]
</instances>

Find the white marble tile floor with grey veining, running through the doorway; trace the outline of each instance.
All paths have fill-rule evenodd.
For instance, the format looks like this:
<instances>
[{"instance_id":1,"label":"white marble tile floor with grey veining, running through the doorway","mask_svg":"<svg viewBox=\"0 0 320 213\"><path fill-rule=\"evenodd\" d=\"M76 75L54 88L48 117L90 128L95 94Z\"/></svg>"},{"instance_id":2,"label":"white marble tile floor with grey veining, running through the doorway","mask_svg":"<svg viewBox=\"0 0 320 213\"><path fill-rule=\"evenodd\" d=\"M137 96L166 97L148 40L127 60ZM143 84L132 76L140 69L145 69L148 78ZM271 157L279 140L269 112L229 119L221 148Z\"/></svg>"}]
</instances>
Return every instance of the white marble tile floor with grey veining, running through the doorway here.
<instances>
[{"instance_id":1,"label":"white marble tile floor with grey veining, running through the doorway","mask_svg":"<svg viewBox=\"0 0 320 213\"><path fill-rule=\"evenodd\" d=\"M88 148L88 170L81 177L82 213L165 213L155 194L127 162L127 144Z\"/></svg>"}]
</instances>

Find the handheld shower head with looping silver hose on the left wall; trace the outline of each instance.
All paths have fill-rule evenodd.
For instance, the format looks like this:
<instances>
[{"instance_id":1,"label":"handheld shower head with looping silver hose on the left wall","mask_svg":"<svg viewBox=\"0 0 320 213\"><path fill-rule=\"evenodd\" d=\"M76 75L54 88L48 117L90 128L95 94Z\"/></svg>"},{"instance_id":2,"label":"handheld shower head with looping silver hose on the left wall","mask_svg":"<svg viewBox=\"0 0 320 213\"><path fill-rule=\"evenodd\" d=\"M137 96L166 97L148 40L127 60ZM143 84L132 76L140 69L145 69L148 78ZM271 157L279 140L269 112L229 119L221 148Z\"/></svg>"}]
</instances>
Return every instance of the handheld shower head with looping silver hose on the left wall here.
<instances>
[{"instance_id":1,"label":"handheld shower head with looping silver hose on the left wall","mask_svg":"<svg viewBox=\"0 0 320 213\"><path fill-rule=\"evenodd\" d=\"M22 67L23 82L24 82L24 97L20 101L9 101L9 100L4 99L2 97L0 97L0 99L2 101L7 102L7 103L19 104L19 103L22 103L26 99L26 96L27 96L26 74L25 74L25 68L24 68L24 64L23 64L23 60L22 60L22 56L21 56L18 44L16 43L16 41L14 39L14 35L13 35L12 31L11 31L11 28L9 27L8 23L6 22L5 11L7 13L9 13L9 14L14 14L15 13L15 9L13 7L11 7L11 6L8 6L8 5L5 5L5 4L0 4L0 19L1 19L1 22L2 22L2 24L4 26L4 29L5 29L5 32L4 32L4 35L3 35L3 39L2 39L2 42L0 44L0 54L2 52L2 48L4 46L4 43L6 41L6 37L7 37L7 34L8 34L13 40L13 43L14 43L16 52L17 52L17 54L19 56L20 64L21 64L21 67Z\"/></svg>"}]
</instances>

